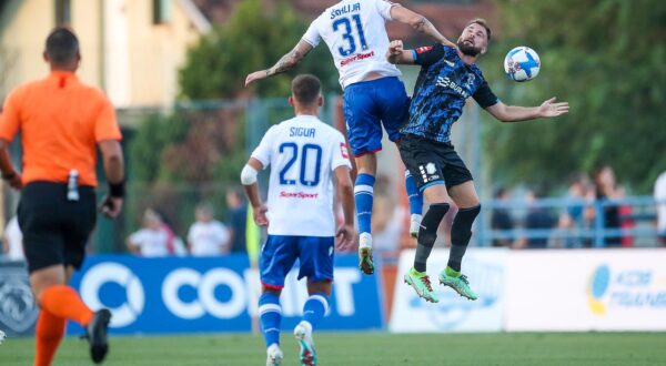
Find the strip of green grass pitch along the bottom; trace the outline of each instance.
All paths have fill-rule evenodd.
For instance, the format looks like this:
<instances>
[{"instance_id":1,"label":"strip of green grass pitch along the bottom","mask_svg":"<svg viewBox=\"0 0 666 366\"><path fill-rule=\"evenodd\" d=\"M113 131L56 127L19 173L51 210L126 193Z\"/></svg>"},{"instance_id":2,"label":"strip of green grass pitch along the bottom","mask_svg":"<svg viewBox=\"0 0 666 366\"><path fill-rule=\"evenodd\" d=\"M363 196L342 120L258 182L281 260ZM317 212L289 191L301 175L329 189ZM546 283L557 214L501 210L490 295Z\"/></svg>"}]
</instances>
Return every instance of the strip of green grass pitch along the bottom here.
<instances>
[{"instance_id":1,"label":"strip of green grass pitch along the bottom","mask_svg":"<svg viewBox=\"0 0 666 366\"><path fill-rule=\"evenodd\" d=\"M315 334L320 364L343 365L666 365L666 333ZM31 365L34 339L10 338L0 365ZM283 333L284 365L297 365ZM91 365L88 344L63 340L54 365ZM104 365L264 365L259 335L117 336Z\"/></svg>"}]
</instances>

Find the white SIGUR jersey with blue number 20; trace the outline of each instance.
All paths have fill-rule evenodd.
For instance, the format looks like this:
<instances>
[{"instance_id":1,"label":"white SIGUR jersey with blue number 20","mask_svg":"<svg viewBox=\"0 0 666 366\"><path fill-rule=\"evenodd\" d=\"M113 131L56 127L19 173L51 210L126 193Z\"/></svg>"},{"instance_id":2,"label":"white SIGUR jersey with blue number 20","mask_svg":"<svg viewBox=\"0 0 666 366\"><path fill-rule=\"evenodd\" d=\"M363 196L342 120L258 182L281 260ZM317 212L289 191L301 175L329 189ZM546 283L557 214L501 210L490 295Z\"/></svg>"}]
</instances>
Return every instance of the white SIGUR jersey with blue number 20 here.
<instances>
[{"instance_id":1,"label":"white SIGUR jersey with blue number 20","mask_svg":"<svg viewBox=\"0 0 666 366\"><path fill-rule=\"evenodd\" d=\"M332 174L352 167L340 131L314 115L297 115L269 129L252 157L271 166L270 235L335 235Z\"/></svg>"}]
</instances>

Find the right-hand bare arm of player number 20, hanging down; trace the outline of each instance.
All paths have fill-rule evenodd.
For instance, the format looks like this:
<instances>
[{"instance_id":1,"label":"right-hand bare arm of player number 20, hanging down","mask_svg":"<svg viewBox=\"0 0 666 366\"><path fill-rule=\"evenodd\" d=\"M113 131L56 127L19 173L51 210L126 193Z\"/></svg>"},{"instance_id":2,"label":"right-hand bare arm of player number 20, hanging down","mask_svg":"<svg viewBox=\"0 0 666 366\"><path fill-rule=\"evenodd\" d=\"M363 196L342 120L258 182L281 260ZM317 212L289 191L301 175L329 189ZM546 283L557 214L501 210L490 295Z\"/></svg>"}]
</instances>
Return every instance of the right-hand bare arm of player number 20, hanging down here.
<instances>
[{"instance_id":1,"label":"right-hand bare arm of player number 20, hanging down","mask_svg":"<svg viewBox=\"0 0 666 366\"><path fill-rule=\"evenodd\" d=\"M347 166L337 166L333 173L335 174L337 199L342 204L344 214L344 224L337 228L335 236L337 237L337 250L345 251L354 244L356 237L354 230L354 184Z\"/></svg>"}]
</instances>

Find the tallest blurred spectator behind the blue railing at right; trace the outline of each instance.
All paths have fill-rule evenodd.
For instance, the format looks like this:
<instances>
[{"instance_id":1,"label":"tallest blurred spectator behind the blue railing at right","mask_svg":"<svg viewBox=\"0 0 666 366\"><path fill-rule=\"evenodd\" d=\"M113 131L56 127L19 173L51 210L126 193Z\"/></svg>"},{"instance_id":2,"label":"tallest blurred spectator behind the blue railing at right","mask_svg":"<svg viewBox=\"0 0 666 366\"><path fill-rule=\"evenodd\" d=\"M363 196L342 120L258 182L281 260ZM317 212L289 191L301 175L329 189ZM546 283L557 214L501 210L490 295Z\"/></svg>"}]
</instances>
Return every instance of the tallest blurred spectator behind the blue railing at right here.
<instances>
[{"instance_id":1,"label":"tallest blurred spectator behind the blue railing at right","mask_svg":"<svg viewBox=\"0 0 666 366\"><path fill-rule=\"evenodd\" d=\"M615 181L615 172L609 165L602 165L594 174L594 185L596 200L599 202L618 200L622 197L622 191L618 190ZM604 205L604 228L620 228L619 205ZM604 237L604 244L607 247L619 247L622 245L620 235L607 235Z\"/></svg>"}]
</instances>

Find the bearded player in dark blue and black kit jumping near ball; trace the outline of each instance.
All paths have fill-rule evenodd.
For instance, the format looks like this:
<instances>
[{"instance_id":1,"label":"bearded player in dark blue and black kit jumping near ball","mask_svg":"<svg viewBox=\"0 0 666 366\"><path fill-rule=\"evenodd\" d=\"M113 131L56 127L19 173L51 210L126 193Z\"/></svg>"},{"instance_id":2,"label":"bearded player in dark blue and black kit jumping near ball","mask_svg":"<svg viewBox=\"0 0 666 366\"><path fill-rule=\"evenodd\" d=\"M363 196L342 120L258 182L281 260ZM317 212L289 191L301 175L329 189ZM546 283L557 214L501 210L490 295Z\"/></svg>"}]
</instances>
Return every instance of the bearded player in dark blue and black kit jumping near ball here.
<instances>
[{"instance_id":1,"label":"bearded player in dark blue and black kit jumping near ball","mask_svg":"<svg viewBox=\"0 0 666 366\"><path fill-rule=\"evenodd\" d=\"M555 98L531 108L502 103L475 63L486 52L490 40L491 29L486 22L474 19L463 30L457 48L434 44L404 50L402 41L393 41L386 54L391 63L421 65L410 106L410 122L400 131L400 153L431 206L418 232L414 267L404 279L418 296L434 303L438 299L425 270L437 237L437 227L448 211L446 191L458 206L458 212L451 228L448 264L440 273L440 283L452 287L461 296L476 299L467 278L461 273L461 262L481 204L472 174L451 144L451 126L461 116L465 100L474 98L502 122L554 118L568 112L568 103L556 103Z\"/></svg>"}]
</instances>

